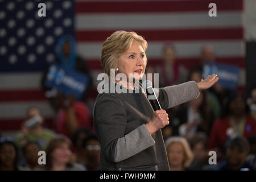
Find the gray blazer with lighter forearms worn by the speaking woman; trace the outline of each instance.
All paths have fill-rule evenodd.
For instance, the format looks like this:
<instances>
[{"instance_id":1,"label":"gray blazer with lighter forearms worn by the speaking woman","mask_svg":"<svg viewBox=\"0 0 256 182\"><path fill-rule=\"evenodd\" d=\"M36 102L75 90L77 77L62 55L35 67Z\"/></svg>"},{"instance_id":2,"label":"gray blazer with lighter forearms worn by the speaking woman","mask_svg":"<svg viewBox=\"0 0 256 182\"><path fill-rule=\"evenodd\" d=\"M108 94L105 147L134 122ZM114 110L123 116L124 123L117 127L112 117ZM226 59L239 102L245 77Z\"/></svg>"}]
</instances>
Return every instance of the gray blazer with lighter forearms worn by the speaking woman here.
<instances>
[{"instance_id":1,"label":"gray blazer with lighter forearms worn by the speaking woman","mask_svg":"<svg viewBox=\"0 0 256 182\"><path fill-rule=\"evenodd\" d=\"M162 109L199 96L195 81L155 92ZM101 143L102 170L169 170L162 131L150 135L145 126L152 114L154 110L144 93L98 94L93 123Z\"/></svg>"}]
</instances>

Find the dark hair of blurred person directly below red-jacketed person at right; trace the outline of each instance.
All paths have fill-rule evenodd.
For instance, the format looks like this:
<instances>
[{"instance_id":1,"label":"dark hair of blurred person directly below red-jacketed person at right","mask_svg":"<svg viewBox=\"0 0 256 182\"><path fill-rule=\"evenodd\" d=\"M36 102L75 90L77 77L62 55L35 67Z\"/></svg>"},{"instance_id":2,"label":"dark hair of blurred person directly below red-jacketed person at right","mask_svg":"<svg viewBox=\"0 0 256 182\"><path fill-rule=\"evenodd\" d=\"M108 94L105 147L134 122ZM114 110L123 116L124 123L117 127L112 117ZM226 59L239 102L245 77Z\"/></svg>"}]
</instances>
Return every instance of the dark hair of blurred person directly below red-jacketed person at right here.
<instances>
[{"instance_id":1,"label":"dark hair of blurred person directly below red-jacketed person at right","mask_svg":"<svg viewBox=\"0 0 256 182\"><path fill-rule=\"evenodd\" d=\"M226 143L226 151L234 147L240 148L240 150L245 152L246 155L249 154L250 152L250 145L248 140L245 137L235 137L228 140L228 142Z\"/></svg>"}]
</instances>

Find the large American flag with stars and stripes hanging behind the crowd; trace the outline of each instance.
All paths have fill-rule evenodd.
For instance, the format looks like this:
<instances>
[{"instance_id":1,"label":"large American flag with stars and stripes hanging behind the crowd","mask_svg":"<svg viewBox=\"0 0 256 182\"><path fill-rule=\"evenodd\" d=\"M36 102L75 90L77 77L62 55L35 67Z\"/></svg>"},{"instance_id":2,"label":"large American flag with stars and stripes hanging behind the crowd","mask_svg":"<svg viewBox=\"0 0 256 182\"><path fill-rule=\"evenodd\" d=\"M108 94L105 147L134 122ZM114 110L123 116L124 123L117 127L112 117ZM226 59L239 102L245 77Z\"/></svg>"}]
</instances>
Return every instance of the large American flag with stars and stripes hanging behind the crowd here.
<instances>
[{"instance_id":1,"label":"large American flag with stars and stripes hanging behind the crowd","mask_svg":"<svg viewBox=\"0 0 256 182\"><path fill-rule=\"evenodd\" d=\"M40 2L46 3L46 17L38 17ZM208 16L211 2L217 5L217 17ZM142 35L151 65L159 64L167 42L174 44L178 61L187 68L198 63L201 47L210 44L217 61L238 65L244 72L242 0L0 0L0 8L1 130L19 129L31 105L40 107L51 121L54 113L40 89L40 78L54 59L57 40L65 34L75 36L77 52L92 70L95 87L102 72L101 45L116 30Z\"/></svg>"}]
</instances>

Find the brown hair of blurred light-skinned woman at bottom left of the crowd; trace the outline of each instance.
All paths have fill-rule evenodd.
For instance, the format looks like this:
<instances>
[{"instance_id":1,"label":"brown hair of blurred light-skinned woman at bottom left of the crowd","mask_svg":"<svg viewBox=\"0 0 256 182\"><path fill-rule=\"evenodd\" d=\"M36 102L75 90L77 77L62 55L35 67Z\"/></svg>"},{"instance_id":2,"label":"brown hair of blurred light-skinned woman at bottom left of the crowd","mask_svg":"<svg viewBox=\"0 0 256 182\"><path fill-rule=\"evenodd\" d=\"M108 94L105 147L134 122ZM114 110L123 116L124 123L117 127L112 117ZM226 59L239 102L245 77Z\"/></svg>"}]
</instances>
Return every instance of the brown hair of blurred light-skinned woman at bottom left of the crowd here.
<instances>
[{"instance_id":1,"label":"brown hair of blurred light-skinned woman at bottom left of the crowd","mask_svg":"<svg viewBox=\"0 0 256 182\"><path fill-rule=\"evenodd\" d=\"M72 149L72 143L69 138L65 137L64 135L56 135L48 144L47 150L46 150L46 166L45 168L47 170L51 170L52 168L52 152L59 147L60 143L68 143L70 150ZM72 167L73 164L69 162L67 164L67 167Z\"/></svg>"}]
</instances>

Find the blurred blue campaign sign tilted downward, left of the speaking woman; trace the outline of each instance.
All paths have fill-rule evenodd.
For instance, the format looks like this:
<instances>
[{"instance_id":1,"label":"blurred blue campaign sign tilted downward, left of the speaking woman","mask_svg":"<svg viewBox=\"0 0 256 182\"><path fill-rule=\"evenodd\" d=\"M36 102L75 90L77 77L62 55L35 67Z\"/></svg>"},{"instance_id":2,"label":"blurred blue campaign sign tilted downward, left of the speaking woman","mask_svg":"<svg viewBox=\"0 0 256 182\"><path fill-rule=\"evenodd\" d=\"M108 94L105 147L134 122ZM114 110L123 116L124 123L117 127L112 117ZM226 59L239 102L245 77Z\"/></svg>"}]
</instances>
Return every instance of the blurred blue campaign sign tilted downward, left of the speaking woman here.
<instances>
[{"instance_id":1,"label":"blurred blue campaign sign tilted downward, left of the speaking woman","mask_svg":"<svg viewBox=\"0 0 256 182\"><path fill-rule=\"evenodd\" d=\"M49 67L45 84L55 88L59 92L68 95L73 94L77 99L81 98L89 82L89 76L73 71L53 63Z\"/></svg>"}]
</instances>

